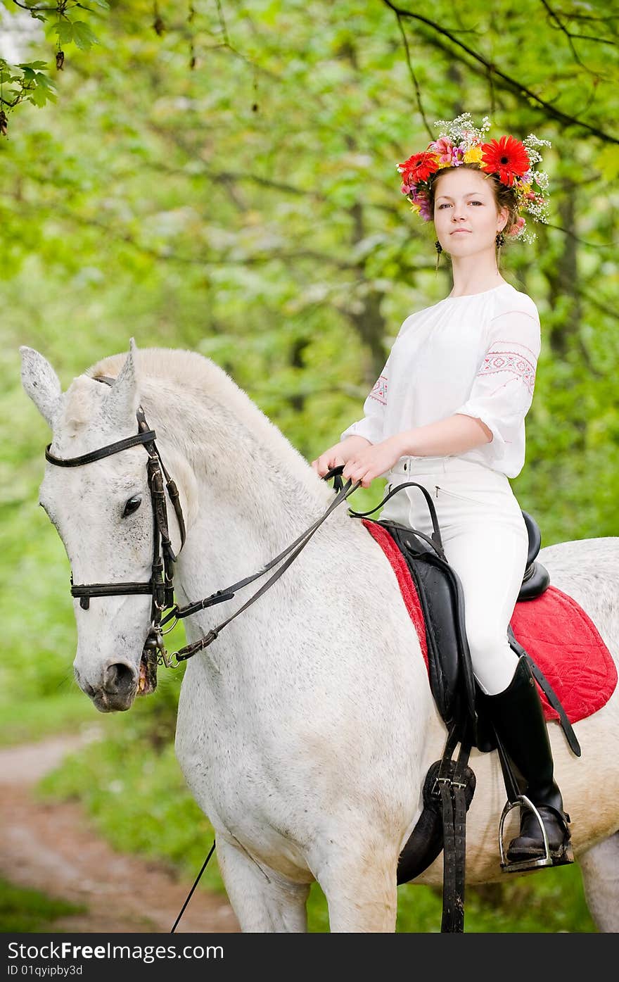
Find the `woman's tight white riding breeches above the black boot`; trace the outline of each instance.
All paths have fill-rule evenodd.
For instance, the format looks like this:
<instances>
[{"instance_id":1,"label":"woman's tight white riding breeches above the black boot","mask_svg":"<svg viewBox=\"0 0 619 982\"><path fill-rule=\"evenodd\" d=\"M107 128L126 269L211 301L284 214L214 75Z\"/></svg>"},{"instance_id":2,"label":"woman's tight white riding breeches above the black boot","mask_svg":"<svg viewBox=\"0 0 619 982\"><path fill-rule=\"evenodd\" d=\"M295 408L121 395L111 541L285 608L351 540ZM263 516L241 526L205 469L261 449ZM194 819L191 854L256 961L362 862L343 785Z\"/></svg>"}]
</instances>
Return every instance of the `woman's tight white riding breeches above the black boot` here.
<instances>
[{"instance_id":1,"label":"woman's tight white riding breeches above the black boot","mask_svg":"<svg viewBox=\"0 0 619 982\"><path fill-rule=\"evenodd\" d=\"M387 473L387 489L405 481L432 495L445 558L464 594L464 620L473 672L489 695L511 682L518 656L507 639L527 565L529 535L505 474L458 457L403 457ZM432 533L423 492L409 487L394 495L381 514Z\"/></svg>"}]
</instances>

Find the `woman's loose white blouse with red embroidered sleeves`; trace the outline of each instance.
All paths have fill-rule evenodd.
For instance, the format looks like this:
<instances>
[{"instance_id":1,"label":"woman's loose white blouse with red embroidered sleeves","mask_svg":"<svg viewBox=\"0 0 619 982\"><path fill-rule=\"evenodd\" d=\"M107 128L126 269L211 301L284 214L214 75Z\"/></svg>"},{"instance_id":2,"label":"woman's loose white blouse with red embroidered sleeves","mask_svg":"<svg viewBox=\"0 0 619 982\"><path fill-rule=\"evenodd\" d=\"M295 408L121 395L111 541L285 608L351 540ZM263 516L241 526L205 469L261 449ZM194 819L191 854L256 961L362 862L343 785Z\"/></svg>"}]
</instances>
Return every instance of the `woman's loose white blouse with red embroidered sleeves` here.
<instances>
[{"instance_id":1,"label":"woman's loose white blouse with red embroidered sleeves","mask_svg":"<svg viewBox=\"0 0 619 982\"><path fill-rule=\"evenodd\" d=\"M454 413L481 419L490 443L457 455L516 477L542 345L538 308L509 283L447 297L406 318L365 401L341 434L370 443Z\"/></svg>"}]
</instances>

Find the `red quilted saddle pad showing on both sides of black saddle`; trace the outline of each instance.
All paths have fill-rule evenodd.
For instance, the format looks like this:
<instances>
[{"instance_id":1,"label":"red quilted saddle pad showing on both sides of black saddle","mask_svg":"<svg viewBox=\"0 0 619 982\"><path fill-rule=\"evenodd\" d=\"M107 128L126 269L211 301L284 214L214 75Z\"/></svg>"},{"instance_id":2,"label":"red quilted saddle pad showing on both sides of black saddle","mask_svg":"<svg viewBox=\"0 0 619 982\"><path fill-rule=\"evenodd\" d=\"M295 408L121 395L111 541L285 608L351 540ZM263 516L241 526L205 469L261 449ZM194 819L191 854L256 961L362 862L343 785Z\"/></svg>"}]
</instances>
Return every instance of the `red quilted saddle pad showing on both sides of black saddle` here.
<instances>
[{"instance_id":1,"label":"red quilted saddle pad showing on both sides of black saddle","mask_svg":"<svg viewBox=\"0 0 619 982\"><path fill-rule=\"evenodd\" d=\"M424 616L406 560L382 525L366 519L363 524L393 568L428 667ZM570 723L584 720L605 705L617 684L617 669L593 621L573 597L548 586L535 600L519 600L510 623L516 640L550 682ZM557 720L557 713L540 694L546 720Z\"/></svg>"}]
</instances>

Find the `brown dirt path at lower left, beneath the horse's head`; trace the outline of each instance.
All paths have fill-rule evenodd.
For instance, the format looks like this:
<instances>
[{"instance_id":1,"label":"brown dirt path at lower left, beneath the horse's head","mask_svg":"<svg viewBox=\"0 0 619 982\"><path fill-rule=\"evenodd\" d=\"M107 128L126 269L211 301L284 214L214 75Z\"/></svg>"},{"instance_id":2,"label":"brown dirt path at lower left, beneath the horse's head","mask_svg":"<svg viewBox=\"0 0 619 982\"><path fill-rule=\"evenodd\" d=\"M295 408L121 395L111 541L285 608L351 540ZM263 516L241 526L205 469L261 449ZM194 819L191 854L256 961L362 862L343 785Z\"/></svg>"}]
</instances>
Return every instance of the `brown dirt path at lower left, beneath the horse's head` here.
<instances>
[{"instance_id":1,"label":"brown dirt path at lower left, beneath the horse's head","mask_svg":"<svg viewBox=\"0 0 619 982\"><path fill-rule=\"evenodd\" d=\"M0 750L0 873L86 906L85 913L54 921L54 931L167 934L191 882L179 881L163 863L115 852L78 804L41 803L30 793L83 738L57 736ZM237 931L226 898L199 888L177 928L178 934Z\"/></svg>"}]
</instances>

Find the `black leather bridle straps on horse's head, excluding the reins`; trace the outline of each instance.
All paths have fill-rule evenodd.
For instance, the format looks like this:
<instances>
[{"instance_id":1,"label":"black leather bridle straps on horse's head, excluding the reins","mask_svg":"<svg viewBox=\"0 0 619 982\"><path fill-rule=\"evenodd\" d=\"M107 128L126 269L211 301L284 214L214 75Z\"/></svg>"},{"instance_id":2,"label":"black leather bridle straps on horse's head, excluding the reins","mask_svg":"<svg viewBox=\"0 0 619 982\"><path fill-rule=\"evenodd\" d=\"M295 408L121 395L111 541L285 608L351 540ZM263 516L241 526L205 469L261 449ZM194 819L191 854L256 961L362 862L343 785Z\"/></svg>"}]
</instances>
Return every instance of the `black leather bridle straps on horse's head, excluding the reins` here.
<instances>
[{"instance_id":1,"label":"black leather bridle straps on horse's head, excluding the reins","mask_svg":"<svg viewBox=\"0 0 619 982\"><path fill-rule=\"evenodd\" d=\"M113 385L114 379L99 377L96 382L103 382L105 385ZM155 431L151 430L146 422L144 410L138 407L135 417L137 419L138 432L134 436L129 436L125 440L118 440L110 443L99 450L93 450L89 454L82 454L81 457L60 458L50 454L48 444L45 448L45 460L58 467L80 467L84 464L93 464L94 461L101 461L104 457L111 457L112 454L119 454L129 447L142 444L148 454L148 487L150 490L150 502L153 512L153 562L151 567L150 579L147 582L128 582L128 583L74 583L73 574L71 576L71 593L74 597L79 597L79 606L82 610L88 610L91 597L113 597L130 595L135 593L148 593L152 596L150 612L151 627L149 638L154 641L154 646L159 648L165 658L165 649L161 641L161 617L162 612L174 605L174 564L177 557L170 541L168 529L168 509L166 505L166 493L164 491L164 475L166 478L166 488L173 504L179 529L181 531L181 549L185 540L184 518L182 516L181 500L179 489L175 481L168 473L165 464L161 459L159 449L155 443ZM149 642L147 641L147 646ZM153 646L153 645L151 645Z\"/></svg>"}]
</instances>

